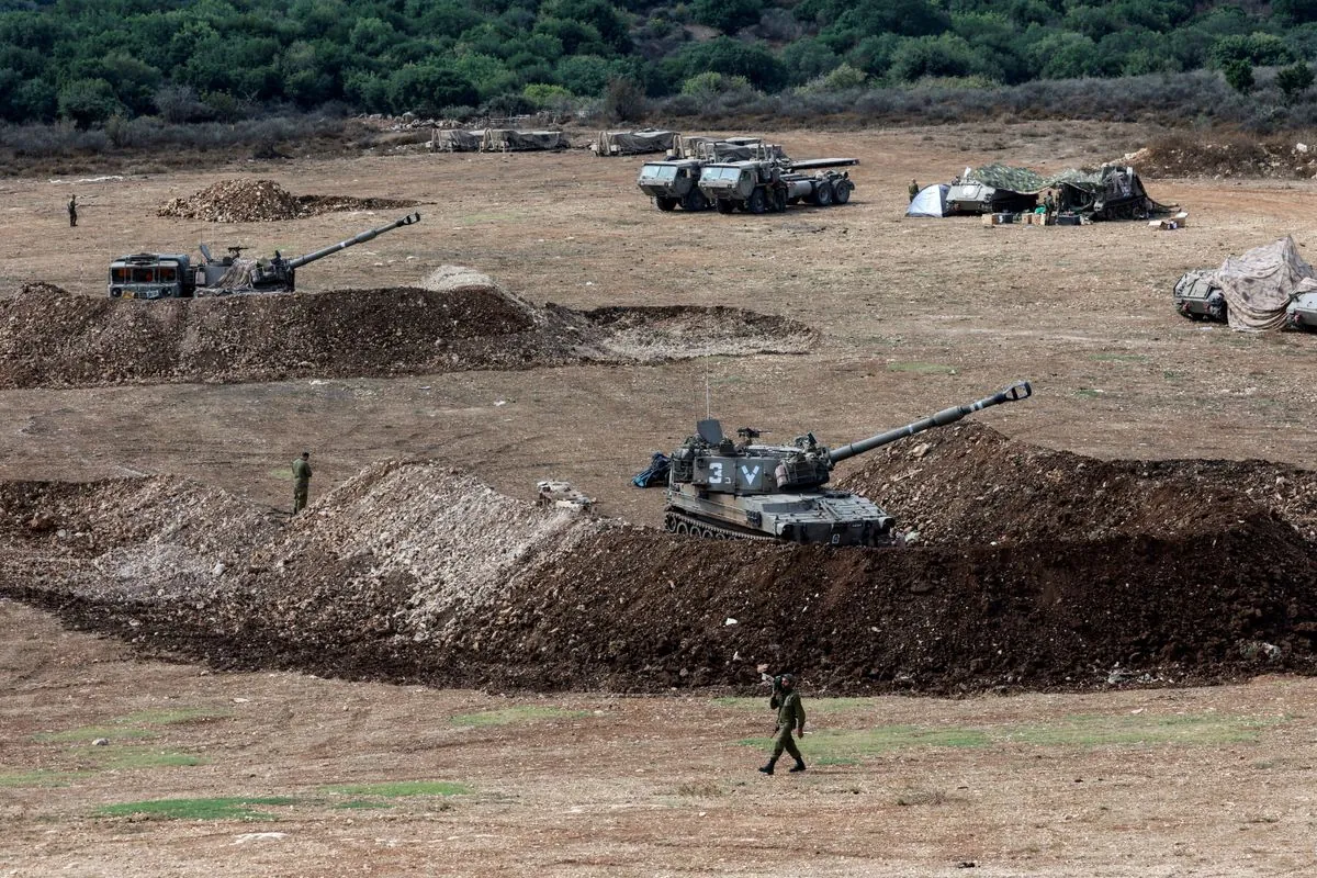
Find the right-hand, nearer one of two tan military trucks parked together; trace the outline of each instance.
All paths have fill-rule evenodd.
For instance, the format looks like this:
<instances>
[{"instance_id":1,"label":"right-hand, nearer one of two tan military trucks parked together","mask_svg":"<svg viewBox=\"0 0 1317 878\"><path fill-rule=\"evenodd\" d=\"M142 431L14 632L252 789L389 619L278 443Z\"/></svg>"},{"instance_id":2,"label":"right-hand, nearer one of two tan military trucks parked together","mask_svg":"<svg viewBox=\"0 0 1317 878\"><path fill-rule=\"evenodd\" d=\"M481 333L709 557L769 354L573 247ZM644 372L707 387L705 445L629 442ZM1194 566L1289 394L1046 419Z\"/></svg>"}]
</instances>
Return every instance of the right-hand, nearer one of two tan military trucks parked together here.
<instances>
[{"instance_id":1,"label":"right-hand, nearer one of two tan military trucks parked together","mask_svg":"<svg viewBox=\"0 0 1317 878\"><path fill-rule=\"evenodd\" d=\"M859 165L859 159L826 158L790 165L774 159L718 162L701 171L699 188L719 213L785 211L788 204L801 201L817 207L846 204L855 191L849 171L805 172L844 165Z\"/></svg>"}]
</instances>

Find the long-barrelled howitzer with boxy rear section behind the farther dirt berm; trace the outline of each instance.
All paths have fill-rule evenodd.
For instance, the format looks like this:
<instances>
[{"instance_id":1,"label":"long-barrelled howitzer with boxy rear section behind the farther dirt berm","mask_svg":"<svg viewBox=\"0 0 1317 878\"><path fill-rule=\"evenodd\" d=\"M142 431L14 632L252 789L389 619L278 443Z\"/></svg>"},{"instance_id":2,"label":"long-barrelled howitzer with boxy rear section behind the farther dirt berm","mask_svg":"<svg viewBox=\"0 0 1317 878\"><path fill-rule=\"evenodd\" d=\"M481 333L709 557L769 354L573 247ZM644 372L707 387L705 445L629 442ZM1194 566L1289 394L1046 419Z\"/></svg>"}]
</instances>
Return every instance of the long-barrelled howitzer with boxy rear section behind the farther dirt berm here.
<instances>
[{"instance_id":1,"label":"long-barrelled howitzer with boxy rear section behind the farther dirt berm","mask_svg":"<svg viewBox=\"0 0 1317 878\"><path fill-rule=\"evenodd\" d=\"M286 259L278 250L269 259L245 259L242 250L246 247L229 247L227 257L216 259L204 244L200 245L200 265L194 265L186 254L138 253L120 257L109 265L109 297L191 299L234 292L291 292L296 288L296 270L308 262L414 222L420 222L420 213L410 213L389 225L291 259Z\"/></svg>"}]
</instances>

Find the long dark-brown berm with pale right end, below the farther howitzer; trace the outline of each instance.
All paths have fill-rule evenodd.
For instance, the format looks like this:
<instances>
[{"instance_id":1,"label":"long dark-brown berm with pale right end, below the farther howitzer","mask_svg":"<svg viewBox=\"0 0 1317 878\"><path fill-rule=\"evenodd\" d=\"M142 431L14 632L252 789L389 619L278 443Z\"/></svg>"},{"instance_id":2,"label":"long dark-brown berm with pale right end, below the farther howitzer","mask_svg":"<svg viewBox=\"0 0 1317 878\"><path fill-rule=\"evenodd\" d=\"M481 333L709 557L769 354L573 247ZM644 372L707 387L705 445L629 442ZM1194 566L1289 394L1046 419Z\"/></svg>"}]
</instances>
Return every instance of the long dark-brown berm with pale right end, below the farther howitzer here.
<instances>
[{"instance_id":1,"label":"long dark-brown berm with pale right end, below the farther howitzer","mask_svg":"<svg viewBox=\"0 0 1317 878\"><path fill-rule=\"evenodd\" d=\"M489 278L122 301L28 284L0 299L0 388L410 375L805 353L803 324L736 308L535 307Z\"/></svg>"}]
</instances>

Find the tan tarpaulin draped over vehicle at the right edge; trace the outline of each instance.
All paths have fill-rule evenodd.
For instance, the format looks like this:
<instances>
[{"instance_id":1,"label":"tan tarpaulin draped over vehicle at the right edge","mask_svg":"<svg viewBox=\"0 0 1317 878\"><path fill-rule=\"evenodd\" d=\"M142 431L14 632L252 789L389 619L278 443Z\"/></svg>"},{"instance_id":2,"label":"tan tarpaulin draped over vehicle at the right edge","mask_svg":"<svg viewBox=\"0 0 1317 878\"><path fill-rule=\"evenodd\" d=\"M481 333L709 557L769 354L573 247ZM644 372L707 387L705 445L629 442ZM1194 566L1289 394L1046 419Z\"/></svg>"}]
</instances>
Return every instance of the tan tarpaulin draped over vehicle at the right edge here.
<instances>
[{"instance_id":1,"label":"tan tarpaulin draped over vehicle at the right edge","mask_svg":"<svg viewBox=\"0 0 1317 878\"><path fill-rule=\"evenodd\" d=\"M1226 299L1231 329L1280 329L1289 300L1317 291L1317 272L1299 255L1295 240L1284 237L1229 257L1217 270L1216 284Z\"/></svg>"}]
</instances>

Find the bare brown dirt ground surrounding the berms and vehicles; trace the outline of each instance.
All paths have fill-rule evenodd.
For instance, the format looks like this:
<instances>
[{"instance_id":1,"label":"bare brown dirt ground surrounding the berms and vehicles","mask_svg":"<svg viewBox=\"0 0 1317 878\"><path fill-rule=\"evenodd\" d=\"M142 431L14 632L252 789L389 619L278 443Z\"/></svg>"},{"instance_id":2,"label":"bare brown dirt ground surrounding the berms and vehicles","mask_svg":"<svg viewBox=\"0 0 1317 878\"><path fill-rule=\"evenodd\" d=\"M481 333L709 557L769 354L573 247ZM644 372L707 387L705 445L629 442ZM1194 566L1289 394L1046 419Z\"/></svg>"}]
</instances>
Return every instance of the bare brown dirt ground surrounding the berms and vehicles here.
<instances>
[{"instance_id":1,"label":"bare brown dirt ground surrounding the berms and vehicles","mask_svg":"<svg viewBox=\"0 0 1317 878\"><path fill-rule=\"evenodd\" d=\"M1185 269L1284 234L1309 245L1313 182L1147 179L1155 199L1191 213L1171 233L901 216L911 176L930 183L988 161L1055 170L1119 157L1143 137L1054 124L784 132L795 157L857 155L859 188L842 208L764 217L660 213L633 187L639 159L579 151L5 179L5 295L40 280L103 296L109 259L125 253L199 240L304 253L391 219L157 216L173 197L250 175L296 195L420 203L420 226L299 271L307 291L412 286L458 263L536 304L731 305L822 338L803 355L647 366L4 390L0 478L182 475L283 507L288 461L306 446L313 495L382 458L443 457L512 496L565 478L605 513L657 524L661 498L628 478L691 430L706 388L724 424L836 444L1021 378L1034 399L976 419L1101 458L1312 467L1317 337L1189 323L1169 290ZM86 204L78 229L62 211L71 191ZM1310 678L811 699L805 749L822 758L769 781L739 744L766 735L761 700L504 699L216 674L133 661L13 603L0 612L0 870L16 875L777 874L784 864L839 875L968 864L1000 875L1287 874L1313 857ZM109 744L91 746L96 737ZM396 781L469 791L337 788ZM291 802L253 806L271 823L97 815L203 796ZM250 835L263 832L284 835Z\"/></svg>"}]
</instances>

